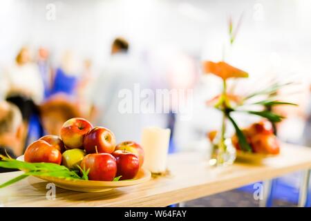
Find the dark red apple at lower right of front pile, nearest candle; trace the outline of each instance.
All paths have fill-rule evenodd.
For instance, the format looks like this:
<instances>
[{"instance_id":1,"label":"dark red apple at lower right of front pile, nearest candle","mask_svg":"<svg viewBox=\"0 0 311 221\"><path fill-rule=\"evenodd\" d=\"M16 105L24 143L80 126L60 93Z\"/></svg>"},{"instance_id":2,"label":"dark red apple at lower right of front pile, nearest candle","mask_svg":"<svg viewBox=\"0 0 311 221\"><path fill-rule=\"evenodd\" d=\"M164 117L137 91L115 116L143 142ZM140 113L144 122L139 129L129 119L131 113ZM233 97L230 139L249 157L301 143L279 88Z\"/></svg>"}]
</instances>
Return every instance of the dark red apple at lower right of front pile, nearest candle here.
<instances>
[{"instance_id":1,"label":"dark red apple at lower right of front pile, nearest candle","mask_svg":"<svg viewBox=\"0 0 311 221\"><path fill-rule=\"evenodd\" d=\"M115 151L112 154L117 160L117 176L120 180L133 179L140 169L138 156L129 151Z\"/></svg>"}]
</instances>

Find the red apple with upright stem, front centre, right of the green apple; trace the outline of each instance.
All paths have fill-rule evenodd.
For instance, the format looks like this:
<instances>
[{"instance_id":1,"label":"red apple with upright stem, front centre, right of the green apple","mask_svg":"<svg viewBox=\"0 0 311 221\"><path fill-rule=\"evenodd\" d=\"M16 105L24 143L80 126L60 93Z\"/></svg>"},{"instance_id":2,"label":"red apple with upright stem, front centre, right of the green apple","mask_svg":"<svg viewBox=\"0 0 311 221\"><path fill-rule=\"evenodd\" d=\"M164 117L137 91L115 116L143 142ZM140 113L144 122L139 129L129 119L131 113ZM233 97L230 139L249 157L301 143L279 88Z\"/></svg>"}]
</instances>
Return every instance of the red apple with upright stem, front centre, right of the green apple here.
<instances>
[{"instance_id":1,"label":"red apple with upright stem, front centre, right of the green apple","mask_svg":"<svg viewBox=\"0 0 311 221\"><path fill-rule=\"evenodd\" d=\"M117 162L109 153L91 153L86 155L81 164L88 172L89 180L112 181L117 174Z\"/></svg>"}]
</instances>

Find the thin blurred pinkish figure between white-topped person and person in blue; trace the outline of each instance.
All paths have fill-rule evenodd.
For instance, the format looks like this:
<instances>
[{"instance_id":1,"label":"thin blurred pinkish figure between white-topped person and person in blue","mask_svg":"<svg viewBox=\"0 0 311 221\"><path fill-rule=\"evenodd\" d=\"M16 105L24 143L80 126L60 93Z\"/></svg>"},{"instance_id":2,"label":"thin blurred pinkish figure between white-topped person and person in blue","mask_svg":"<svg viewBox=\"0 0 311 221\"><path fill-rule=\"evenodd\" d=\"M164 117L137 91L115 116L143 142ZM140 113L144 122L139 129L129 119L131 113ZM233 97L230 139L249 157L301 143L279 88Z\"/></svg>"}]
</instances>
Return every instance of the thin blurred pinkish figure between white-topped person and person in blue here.
<instances>
[{"instance_id":1,"label":"thin blurred pinkish figure between white-topped person and person in blue","mask_svg":"<svg viewBox=\"0 0 311 221\"><path fill-rule=\"evenodd\" d=\"M40 47L37 56L37 65L44 84L44 97L46 98L50 94L53 80L52 68L49 61L49 52L46 48Z\"/></svg>"}]
</instances>

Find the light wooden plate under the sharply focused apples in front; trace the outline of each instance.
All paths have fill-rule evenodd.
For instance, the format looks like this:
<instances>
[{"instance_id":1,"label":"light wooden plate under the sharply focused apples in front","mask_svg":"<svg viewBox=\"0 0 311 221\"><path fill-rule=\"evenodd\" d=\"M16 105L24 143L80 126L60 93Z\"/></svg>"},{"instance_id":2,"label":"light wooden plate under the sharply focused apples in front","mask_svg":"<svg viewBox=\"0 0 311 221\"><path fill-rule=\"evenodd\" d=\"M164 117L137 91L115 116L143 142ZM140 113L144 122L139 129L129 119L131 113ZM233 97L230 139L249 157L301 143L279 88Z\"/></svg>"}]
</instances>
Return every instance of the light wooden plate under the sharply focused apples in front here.
<instances>
[{"instance_id":1,"label":"light wooden plate under the sharply focused apples in front","mask_svg":"<svg viewBox=\"0 0 311 221\"><path fill-rule=\"evenodd\" d=\"M17 160L23 161L23 155L17 158ZM65 180L57 177L42 177L36 176L42 180L53 182L55 186L62 189L68 189L70 191L79 192L104 192L110 191L113 188L123 186L133 186L146 182L151 178L151 172L147 169L140 169L138 174L133 180L120 180L120 181L93 181L93 180Z\"/></svg>"}]
</instances>

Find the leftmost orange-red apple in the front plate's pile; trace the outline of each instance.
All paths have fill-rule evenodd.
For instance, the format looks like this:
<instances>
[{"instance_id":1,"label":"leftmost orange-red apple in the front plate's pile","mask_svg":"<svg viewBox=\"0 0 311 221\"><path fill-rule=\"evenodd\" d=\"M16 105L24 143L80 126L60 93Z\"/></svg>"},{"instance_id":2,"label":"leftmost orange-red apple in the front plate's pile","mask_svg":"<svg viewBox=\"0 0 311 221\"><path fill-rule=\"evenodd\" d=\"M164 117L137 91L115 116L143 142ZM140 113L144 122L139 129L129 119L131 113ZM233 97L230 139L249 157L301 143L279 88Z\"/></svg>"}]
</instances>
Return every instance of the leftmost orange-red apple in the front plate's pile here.
<instances>
[{"instance_id":1,"label":"leftmost orange-red apple in the front plate's pile","mask_svg":"<svg viewBox=\"0 0 311 221\"><path fill-rule=\"evenodd\" d=\"M46 162L61 164L62 153L54 146L48 144L48 142L37 140L27 147L24 160L30 163Z\"/></svg>"}]
</instances>

